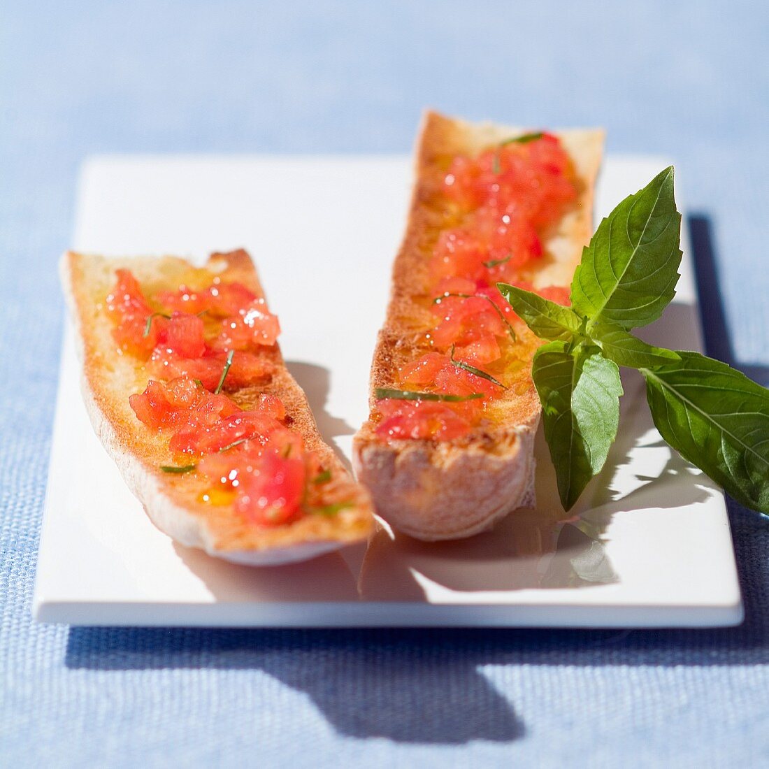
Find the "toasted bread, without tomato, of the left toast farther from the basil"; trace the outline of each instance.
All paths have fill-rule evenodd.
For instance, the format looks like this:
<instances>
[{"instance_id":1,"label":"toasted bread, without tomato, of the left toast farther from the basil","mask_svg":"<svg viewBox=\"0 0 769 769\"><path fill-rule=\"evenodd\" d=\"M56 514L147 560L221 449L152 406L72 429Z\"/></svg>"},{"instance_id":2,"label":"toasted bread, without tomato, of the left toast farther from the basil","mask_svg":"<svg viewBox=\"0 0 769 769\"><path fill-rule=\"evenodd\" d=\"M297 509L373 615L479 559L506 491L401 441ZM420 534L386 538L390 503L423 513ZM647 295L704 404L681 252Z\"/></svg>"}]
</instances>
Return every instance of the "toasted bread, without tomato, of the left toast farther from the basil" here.
<instances>
[{"instance_id":1,"label":"toasted bread, without tomato, of the left toast farther from the basil","mask_svg":"<svg viewBox=\"0 0 769 769\"><path fill-rule=\"evenodd\" d=\"M62 283L75 321L88 415L151 521L181 544L255 566L303 561L365 539L373 525L368 493L321 439L305 393L285 367L278 345L267 353L275 373L266 384L228 394L242 408L253 404L261 392L278 395L293 420L291 429L331 471L331 481L322 487L324 498L344 498L352 501L351 507L333 516L307 514L291 524L260 527L238 515L231 504L200 501L210 483L198 472L177 475L159 469L178 464L168 448L168 435L138 421L128 404L128 396L143 391L151 377L137 358L118 354L112 321L105 314L105 297L115 285L116 268L130 269L150 294L189 285L199 270L175 257L108 259L68 252L62 258ZM245 251L211 255L205 268L222 281L238 281L264 295Z\"/></svg>"}]
</instances>

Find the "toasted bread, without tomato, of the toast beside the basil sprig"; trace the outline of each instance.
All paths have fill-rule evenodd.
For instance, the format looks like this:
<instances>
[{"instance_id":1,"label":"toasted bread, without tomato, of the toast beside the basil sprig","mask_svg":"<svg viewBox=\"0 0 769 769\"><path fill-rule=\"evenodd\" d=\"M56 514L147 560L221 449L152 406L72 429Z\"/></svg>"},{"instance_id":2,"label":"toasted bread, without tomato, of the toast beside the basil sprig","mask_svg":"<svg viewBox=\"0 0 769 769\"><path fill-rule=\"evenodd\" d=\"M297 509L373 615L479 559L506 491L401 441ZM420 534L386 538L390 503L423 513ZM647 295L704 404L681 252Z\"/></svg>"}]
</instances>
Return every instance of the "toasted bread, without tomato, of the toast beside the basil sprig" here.
<instances>
[{"instance_id":1,"label":"toasted bread, without tomato, of the toast beside the basil sprig","mask_svg":"<svg viewBox=\"0 0 769 769\"><path fill-rule=\"evenodd\" d=\"M398 367L422 352L415 341L432 328L425 309L431 243L444 226L436 200L448 163L475 155L522 128L462 122L428 112L416 150L416 181L404 240L394 262L391 299L371 365L370 406L376 388L398 387ZM601 161L601 130L555 131L578 177L575 205L544 241L545 258L525 275L536 288L568 286L592 231L594 184ZM422 301L415 301L420 298ZM458 539L490 528L509 512L534 505L534 433L540 402L531 359L540 342L518 331L528 361L508 391L488 409L492 428L476 428L455 441L384 441L367 421L353 444L358 479L371 491L379 515L394 528L425 541Z\"/></svg>"}]
</instances>

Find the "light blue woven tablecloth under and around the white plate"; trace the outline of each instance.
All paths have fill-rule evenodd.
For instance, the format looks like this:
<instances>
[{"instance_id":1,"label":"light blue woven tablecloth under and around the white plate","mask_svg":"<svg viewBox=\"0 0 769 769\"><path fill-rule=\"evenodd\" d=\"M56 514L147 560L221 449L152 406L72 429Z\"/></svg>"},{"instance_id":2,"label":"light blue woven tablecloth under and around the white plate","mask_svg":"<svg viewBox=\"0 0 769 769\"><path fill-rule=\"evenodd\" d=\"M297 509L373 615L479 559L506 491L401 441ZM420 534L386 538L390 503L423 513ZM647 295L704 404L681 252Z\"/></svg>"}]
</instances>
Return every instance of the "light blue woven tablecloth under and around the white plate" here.
<instances>
[{"instance_id":1,"label":"light blue woven tablecloth under and around the white plate","mask_svg":"<svg viewBox=\"0 0 769 769\"><path fill-rule=\"evenodd\" d=\"M769 764L769 521L718 631L32 624L75 174L98 151L407 151L424 105L678 161L709 349L769 382L759 3L4 2L0 764Z\"/></svg>"}]
</instances>

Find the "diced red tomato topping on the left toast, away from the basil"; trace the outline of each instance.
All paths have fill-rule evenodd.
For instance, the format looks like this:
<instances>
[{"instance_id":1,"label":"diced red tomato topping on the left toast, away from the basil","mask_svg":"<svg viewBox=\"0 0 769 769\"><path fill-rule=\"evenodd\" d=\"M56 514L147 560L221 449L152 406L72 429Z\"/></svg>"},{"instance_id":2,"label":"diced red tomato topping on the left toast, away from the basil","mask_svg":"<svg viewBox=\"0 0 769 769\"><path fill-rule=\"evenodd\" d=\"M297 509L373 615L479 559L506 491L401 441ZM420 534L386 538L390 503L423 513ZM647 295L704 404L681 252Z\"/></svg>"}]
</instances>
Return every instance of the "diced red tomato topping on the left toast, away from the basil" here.
<instances>
[{"instance_id":1,"label":"diced red tomato topping on the left toast, away from the basil","mask_svg":"<svg viewBox=\"0 0 769 769\"><path fill-rule=\"evenodd\" d=\"M151 379L130 396L138 420L172 431L168 448L195 457L196 471L233 494L235 511L251 523L290 523L303 506L322 504L321 485L308 483L321 461L285 424L281 399L261 393L245 411L224 393L267 381L275 370L265 347L275 345L280 325L264 298L214 278L208 288L182 285L154 301L171 317L153 311L127 270L118 271L107 298L118 345L139 358L151 355L149 370L167 380Z\"/></svg>"}]
</instances>

